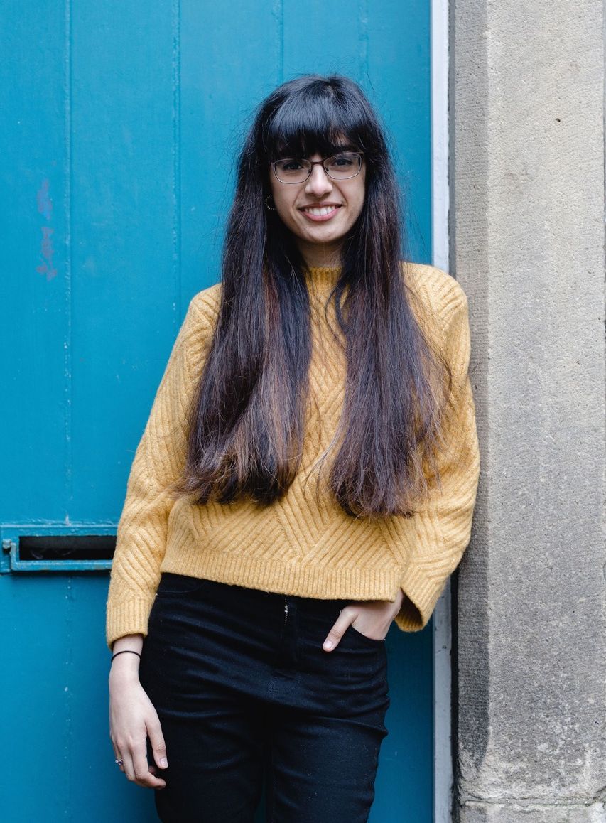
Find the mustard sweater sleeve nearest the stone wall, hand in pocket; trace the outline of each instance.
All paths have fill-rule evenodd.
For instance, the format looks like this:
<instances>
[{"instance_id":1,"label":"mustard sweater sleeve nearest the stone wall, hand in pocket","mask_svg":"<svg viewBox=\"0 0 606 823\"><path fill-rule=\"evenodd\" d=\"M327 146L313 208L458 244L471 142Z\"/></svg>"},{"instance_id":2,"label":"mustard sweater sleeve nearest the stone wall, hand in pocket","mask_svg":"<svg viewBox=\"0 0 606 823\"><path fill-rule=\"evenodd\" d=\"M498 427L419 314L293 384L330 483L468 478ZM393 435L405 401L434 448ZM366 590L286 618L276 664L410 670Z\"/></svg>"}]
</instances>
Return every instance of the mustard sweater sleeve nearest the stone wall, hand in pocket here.
<instances>
[{"instance_id":1,"label":"mustard sweater sleeve nearest the stone wall, hand in pocket","mask_svg":"<svg viewBox=\"0 0 606 823\"><path fill-rule=\"evenodd\" d=\"M414 546L400 581L405 597L396 615L403 631L427 625L446 580L459 564L470 542L479 481L468 304L456 281L442 328L443 351L452 370L451 407L438 459L442 490L433 490L428 505L415 515Z\"/></svg>"}]
</instances>

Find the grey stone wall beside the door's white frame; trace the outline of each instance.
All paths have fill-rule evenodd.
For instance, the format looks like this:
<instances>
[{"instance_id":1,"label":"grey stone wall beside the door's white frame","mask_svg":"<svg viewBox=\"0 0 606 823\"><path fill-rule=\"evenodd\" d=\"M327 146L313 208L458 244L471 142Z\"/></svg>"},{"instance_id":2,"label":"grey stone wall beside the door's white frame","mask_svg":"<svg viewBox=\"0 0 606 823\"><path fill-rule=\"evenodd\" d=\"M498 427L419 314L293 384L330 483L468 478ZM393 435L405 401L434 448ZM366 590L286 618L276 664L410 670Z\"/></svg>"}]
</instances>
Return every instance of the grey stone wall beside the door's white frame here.
<instances>
[{"instance_id":1,"label":"grey stone wall beside the door's white frame","mask_svg":"<svg viewBox=\"0 0 606 823\"><path fill-rule=\"evenodd\" d=\"M606 821L603 17L451 0L451 272L483 458L454 587L465 823Z\"/></svg>"}]
</instances>

